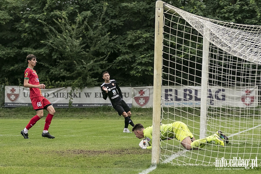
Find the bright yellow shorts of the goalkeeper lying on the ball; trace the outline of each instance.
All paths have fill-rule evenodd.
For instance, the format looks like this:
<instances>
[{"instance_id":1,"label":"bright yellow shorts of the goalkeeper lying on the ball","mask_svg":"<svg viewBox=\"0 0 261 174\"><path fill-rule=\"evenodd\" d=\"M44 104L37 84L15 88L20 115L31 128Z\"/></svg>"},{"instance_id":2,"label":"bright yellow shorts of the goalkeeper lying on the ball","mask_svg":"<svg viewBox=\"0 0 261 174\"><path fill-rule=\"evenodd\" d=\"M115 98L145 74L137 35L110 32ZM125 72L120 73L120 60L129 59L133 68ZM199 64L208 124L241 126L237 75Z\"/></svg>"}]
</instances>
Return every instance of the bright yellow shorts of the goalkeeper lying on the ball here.
<instances>
[{"instance_id":1,"label":"bright yellow shorts of the goalkeeper lying on the ball","mask_svg":"<svg viewBox=\"0 0 261 174\"><path fill-rule=\"evenodd\" d=\"M193 134L189 131L188 126L183 122L173 122L172 123L173 132L175 133L175 138L180 142L186 137L193 138Z\"/></svg>"}]
</instances>

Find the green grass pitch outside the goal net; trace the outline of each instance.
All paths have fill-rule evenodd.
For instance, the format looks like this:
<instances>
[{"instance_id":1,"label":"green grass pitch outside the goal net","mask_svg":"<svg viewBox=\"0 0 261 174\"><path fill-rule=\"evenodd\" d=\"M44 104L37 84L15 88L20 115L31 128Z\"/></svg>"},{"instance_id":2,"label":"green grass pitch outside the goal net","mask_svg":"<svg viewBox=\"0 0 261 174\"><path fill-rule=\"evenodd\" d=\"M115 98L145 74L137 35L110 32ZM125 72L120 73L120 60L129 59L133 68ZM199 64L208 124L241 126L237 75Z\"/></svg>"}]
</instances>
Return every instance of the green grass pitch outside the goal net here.
<instances>
[{"instance_id":1,"label":"green grass pitch outside the goal net","mask_svg":"<svg viewBox=\"0 0 261 174\"><path fill-rule=\"evenodd\" d=\"M124 119L113 109L56 109L49 128L55 139L41 137L45 117L30 129L30 139L24 139L20 131L34 115L32 108L0 108L0 173L134 174L146 173L151 167L151 150L139 148L140 140L133 133L122 132ZM134 123L151 126L152 109L133 108L132 119ZM222 173L258 170L260 167ZM173 166L167 163L159 164L149 173L220 171L215 166Z\"/></svg>"}]
</instances>

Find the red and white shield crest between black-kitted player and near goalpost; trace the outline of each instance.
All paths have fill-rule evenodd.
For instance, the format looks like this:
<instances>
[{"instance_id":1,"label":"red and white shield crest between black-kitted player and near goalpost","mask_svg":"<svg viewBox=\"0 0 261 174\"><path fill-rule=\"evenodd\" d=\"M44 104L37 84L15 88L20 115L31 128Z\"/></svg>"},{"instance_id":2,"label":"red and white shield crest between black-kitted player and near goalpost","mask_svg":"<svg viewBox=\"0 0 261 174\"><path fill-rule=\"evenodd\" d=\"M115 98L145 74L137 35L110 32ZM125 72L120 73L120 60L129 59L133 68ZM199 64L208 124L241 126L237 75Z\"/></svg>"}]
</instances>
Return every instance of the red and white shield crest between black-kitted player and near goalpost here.
<instances>
[{"instance_id":1,"label":"red and white shield crest between black-kitted player and near goalpost","mask_svg":"<svg viewBox=\"0 0 261 174\"><path fill-rule=\"evenodd\" d=\"M134 89L134 100L139 106L144 106L150 99L150 89Z\"/></svg>"}]
</instances>

